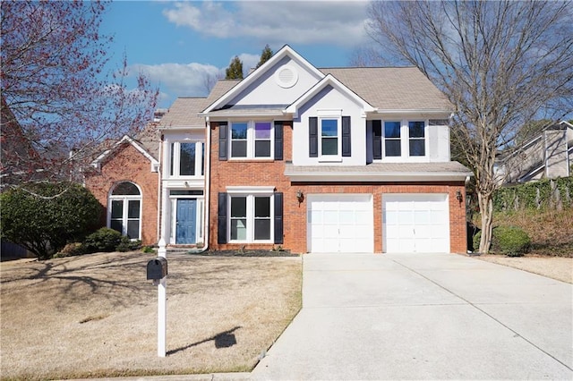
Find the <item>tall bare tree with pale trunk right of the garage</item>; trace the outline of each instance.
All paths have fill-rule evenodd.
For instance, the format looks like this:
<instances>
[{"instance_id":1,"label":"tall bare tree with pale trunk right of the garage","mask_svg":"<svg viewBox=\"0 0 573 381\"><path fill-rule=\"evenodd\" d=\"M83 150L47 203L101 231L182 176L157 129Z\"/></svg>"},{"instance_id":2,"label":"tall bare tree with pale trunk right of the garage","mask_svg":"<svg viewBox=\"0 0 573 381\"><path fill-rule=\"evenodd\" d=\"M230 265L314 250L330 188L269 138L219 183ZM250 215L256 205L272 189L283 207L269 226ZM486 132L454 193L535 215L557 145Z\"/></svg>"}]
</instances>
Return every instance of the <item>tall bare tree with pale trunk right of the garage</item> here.
<instances>
[{"instance_id":1,"label":"tall bare tree with pale trunk right of the garage","mask_svg":"<svg viewBox=\"0 0 573 381\"><path fill-rule=\"evenodd\" d=\"M569 2L372 2L376 56L417 66L455 106L452 136L475 174L480 252L492 241L496 154L533 118L573 110Z\"/></svg>"}]
</instances>

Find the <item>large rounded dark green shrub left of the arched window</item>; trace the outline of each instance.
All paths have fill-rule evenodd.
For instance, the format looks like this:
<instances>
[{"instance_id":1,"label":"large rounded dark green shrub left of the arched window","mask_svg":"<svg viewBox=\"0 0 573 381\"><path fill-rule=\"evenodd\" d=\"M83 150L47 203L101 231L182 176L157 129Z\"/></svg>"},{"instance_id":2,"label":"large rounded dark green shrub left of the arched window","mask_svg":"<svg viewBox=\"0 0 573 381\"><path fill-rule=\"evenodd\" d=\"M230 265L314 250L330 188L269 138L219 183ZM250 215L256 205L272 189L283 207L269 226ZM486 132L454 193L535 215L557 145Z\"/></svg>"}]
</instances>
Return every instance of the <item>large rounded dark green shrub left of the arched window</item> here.
<instances>
[{"instance_id":1,"label":"large rounded dark green shrub left of the arched window","mask_svg":"<svg viewBox=\"0 0 573 381\"><path fill-rule=\"evenodd\" d=\"M37 182L22 184L0 195L0 233L49 259L68 242L82 241L99 223L101 205L79 184Z\"/></svg>"}]
</instances>

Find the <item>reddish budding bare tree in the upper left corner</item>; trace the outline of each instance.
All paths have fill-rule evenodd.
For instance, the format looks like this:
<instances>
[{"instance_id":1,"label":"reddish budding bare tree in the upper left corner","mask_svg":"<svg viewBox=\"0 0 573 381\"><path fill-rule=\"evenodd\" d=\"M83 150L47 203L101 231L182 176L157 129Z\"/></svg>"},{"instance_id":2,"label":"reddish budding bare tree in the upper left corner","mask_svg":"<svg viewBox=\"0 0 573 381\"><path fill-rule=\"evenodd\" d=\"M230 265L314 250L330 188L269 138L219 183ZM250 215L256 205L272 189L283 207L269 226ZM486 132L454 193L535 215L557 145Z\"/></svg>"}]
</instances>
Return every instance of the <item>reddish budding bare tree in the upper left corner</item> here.
<instances>
[{"instance_id":1,"label":"reddish budding bare tree in the upper left corner","mask_svg":"<svg viewBox=\"0 0 573 381\"><path fill-rule=\"evenodd\" d=\"M102 141L152 119L158 90L141 74L128 89L125 57L120 67L108 67L112 38L99 33L106 4L2 2L2 141L34 151L24 157L21 149L3 148L4 183L15 183L14 174L16 182L38 173L61 180Z\"/></svg>"}]
</instances>

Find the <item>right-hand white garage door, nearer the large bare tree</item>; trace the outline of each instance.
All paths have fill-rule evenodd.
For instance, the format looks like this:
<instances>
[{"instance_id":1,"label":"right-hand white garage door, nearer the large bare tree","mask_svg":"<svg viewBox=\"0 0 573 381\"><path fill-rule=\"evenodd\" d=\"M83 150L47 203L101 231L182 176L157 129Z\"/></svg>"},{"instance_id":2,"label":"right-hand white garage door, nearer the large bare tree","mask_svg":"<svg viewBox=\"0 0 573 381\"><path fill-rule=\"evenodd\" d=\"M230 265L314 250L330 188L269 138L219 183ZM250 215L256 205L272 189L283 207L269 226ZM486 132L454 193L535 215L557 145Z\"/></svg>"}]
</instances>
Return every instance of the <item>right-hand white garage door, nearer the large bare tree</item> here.
<instances>
[{"instance_id":1,"label":"right-hand white garage door, nearer the large bare tree","mask_svg":"<svg viewBox=\"0 0 573 381\"><path fill-rule=\"evenodd\" d=\"M447 194L383 194L384 252L449 252Z\"/></svg>"}]
</instances>

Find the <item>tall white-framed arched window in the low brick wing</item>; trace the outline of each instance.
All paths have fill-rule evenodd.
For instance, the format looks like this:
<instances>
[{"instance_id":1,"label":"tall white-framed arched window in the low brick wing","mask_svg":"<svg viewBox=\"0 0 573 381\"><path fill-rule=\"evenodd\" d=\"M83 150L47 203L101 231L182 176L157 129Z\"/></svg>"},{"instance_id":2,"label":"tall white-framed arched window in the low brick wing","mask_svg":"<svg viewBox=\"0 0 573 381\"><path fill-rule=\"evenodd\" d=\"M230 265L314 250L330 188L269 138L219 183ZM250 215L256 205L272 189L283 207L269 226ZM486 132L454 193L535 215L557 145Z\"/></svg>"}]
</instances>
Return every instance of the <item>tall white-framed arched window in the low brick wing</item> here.
<instances>
[{"instance_id":1,"label":"tall white-framed arched window in the low brick wing","mask_svg":"<svg viewBox=\"0 0 573 381\"><path fill-rule=\"evenodd\" d=\"M141 240L141 191L133 182L119 182L112 188L107 226L133 240Z\"/></svg>"}]
</instances>

